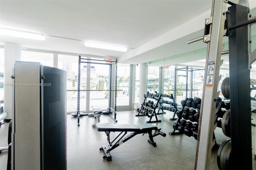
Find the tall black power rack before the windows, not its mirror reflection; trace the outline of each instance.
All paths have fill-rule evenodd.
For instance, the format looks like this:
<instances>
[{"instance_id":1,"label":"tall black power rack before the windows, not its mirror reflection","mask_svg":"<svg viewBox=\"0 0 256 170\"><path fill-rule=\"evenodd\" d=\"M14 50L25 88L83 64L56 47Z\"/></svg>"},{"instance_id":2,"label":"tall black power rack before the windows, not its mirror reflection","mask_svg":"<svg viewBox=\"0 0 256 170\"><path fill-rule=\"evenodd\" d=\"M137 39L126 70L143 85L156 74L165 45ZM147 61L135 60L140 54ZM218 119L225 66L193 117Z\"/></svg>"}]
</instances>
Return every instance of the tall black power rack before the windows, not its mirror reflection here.
<instances>
[{"instance_id":1,"label":"tall black power rack before the windows, not its mirror reflection","mask_svg":"<svg viewBox=\"0 0 256 170\"><path fill-rule=\"evenodd\" d=\"M89 61L88 61L89 60ZM92 62L94 61L94 62ZM100 91L109 91L109 105L108 110L104 111L104 114L108 114L114 121L116 120L116 92L117 92L117 59L113 59L112 61L105 61L109 63L101 63L97 61L105 61L100 59L88 59L88 58L82 58L81 55L79 55L78 59L78 77L77 77L77 123L78 126L80 126L80 91L98 91L98 90L80 90L80 76L81 76L81 63L92 63L92 64L104 64L110 66L110 76L109 76L109 90L100 90ZM115 64L115 87L114 90L112 89L112 65ZM111 94L114 91L114 109L111 108ZM112 117L111 113L114 112L114 117Z\"/></svg>"}]
</instances>

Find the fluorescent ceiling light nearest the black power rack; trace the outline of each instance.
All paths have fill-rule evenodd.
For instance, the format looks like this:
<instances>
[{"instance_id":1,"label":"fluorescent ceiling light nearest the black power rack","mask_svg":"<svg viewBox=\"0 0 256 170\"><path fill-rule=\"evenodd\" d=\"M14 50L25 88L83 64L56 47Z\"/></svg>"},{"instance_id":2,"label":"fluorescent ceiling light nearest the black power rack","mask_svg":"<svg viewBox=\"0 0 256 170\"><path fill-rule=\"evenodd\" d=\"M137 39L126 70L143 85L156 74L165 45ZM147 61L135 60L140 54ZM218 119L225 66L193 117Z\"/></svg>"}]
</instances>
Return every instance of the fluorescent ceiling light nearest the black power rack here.
<instances>
[{"instance_id":1,"label":"fluorescent ceiling light nearest the black power rack","mask_svg":"<svg viewBox=\"0 0 256 170\"><path fill-rule=\"evenodd\" d=\"M127 47L122 47L118 45L110 45L106 43L97 43L97 42L85 42L84 45L86 47L93 47L93 48L101 48L101 49L110 49L114 51L127 51Z\"/></svg>"}]
</instances>

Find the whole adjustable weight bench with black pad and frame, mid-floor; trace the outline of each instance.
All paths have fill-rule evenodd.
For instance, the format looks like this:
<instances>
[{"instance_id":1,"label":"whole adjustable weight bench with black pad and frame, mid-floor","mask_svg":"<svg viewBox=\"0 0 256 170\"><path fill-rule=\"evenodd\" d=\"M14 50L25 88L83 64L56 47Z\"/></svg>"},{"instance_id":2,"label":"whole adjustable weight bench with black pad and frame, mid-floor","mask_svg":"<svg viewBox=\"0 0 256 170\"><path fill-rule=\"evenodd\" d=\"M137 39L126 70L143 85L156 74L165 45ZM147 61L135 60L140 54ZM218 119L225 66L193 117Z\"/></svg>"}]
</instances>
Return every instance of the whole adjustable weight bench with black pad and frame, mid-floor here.
<instances>
[{"instance_id":1,"label":"whole adjustable weight bench with black pad and frame, mid-floor","mask_svg":"<svg viewBox=\"0 0 256 170\"><path fill-rule=\"evenodd\" d=\"M96 124L96 128L99 132L105 132L107 135L108 146L102 145L100 150L104 151L105 156L103 159L106 158L107 161L111 161L112 157L110 155L110 151L114 148L120 146L130 138L134 137L136 134L145 134L148 133L149 139L148 142L152 144L154 147L156 146L156 142L154 142L153 137L157 135L166 136L166 134L158 127L152 124L142 124L142 125L119 125L119 124ZM154 134L152 134L152 130L155 130ZM120 132L114 140L110 141L110 132ZM131 132L127 136L127 132ZM121 135L122 134L122 135ZM125 137L124 137L125 136Z\"/></svg>"}]
</instances>

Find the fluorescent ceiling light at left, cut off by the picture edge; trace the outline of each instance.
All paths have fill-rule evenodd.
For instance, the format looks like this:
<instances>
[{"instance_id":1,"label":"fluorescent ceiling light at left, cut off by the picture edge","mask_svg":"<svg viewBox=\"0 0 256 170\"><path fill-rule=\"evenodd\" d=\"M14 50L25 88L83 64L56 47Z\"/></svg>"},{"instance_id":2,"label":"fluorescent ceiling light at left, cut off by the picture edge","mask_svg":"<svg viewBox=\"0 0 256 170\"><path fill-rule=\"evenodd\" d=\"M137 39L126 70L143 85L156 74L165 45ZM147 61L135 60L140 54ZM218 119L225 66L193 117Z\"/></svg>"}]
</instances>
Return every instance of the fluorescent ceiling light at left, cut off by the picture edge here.
<instances>
[{"instance_id":1,"label":"fluorescent ceiling light at left, cut off by the picture edge","mask_svg":"<svg viewBox=\"0 0 256 170\"><path fill-rule=\"evenodd\" d=\"M9 28L0 28L0 35L3 36L12 36L19 38L28 38L33 40L45 40L44 34L38 34L34 32L13 30Z\"/></svg>"}]
</instances>

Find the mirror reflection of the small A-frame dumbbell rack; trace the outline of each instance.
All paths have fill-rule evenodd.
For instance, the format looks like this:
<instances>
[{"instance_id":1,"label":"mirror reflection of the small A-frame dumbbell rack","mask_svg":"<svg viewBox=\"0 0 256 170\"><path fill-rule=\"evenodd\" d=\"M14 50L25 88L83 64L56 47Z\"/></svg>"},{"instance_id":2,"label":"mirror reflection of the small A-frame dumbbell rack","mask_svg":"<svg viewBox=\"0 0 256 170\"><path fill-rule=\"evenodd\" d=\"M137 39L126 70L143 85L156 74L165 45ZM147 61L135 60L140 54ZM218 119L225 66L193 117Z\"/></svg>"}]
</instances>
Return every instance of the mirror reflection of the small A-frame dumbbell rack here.
<instances>
[{"instance_id":1,"label":"mirror reflection of the small A-frame dumbbell rack","mask_svg":"<svg viewBox=\"0 0 256 170\"><path fill-rule=\"evenodd\" d=\"M163 97L168 97L169 99L172 99L172 101L163 100L162 99ZM168 111L171 111L174 113L172 118L170 118L170 121L176 120L174 117L175 117L178 109L177 109L177 103L175 102L173 95L172 94L171 95L163 94L162 98L159 101L159 108L158 108L157 114L161 114L161 113L159 113L160 110L162 111L162 114L165 114L164 110L168 110ZM165 106L164 103L168 104L168 106Z\"/></svg>"}]
</instances>

